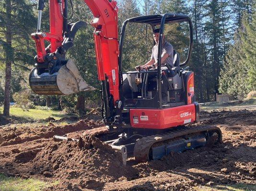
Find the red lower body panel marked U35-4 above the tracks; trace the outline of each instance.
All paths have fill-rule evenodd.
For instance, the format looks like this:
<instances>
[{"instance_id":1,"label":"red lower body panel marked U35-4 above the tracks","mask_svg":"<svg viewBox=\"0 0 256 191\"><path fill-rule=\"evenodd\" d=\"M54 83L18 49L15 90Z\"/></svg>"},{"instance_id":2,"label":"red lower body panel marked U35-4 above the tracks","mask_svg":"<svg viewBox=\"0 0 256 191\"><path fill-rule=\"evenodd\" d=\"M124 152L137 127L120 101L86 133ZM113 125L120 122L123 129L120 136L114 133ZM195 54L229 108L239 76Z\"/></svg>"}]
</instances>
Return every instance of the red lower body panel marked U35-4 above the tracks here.
<instances>
[{"instance_id":1,"label":"red lower body panel marked U35-4 above the tracks","mask_svg":"<svg viewBox=\"0 0 256 191\"><path fill-rule=\"evenodd\" d=\"M130 124L135 128L165 129L195 120L195 104L165 109L130 109Z\"/></svg>"}]
</instances>

